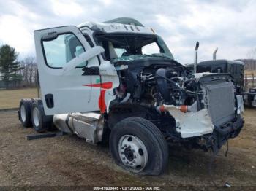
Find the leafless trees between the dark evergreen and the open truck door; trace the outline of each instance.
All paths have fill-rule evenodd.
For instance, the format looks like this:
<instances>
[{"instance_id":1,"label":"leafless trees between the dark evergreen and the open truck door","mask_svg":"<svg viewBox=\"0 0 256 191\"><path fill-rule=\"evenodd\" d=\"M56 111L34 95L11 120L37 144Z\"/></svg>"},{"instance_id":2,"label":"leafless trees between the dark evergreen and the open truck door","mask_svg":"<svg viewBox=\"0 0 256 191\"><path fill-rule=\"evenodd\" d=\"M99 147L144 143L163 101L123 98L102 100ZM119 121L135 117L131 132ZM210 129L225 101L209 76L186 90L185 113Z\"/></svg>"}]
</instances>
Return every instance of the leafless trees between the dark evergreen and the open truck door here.
<instances>
[{"instance_id":1,"label":"leafless trees between the dark evergreen and the open truck door","mask_svg":"<svg viewBox=\"0 0 256 191\"><path fill-rule=\"evenodd\" d=\"M36 85L37 79L37 63L36 59L32 56L28 56L20 61L22 70L21 74L23 76L23 81L26 85L34 86Z\"/></svg>"}]
</instances>

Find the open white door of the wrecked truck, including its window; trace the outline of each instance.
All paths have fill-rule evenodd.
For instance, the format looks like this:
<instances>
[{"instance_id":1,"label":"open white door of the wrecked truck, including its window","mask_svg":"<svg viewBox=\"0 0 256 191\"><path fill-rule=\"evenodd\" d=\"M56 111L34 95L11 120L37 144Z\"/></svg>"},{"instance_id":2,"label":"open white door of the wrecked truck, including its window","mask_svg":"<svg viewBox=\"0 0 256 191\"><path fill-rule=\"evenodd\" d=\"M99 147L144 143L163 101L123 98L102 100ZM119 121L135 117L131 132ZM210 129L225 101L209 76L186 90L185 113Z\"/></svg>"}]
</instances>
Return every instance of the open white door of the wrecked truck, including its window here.
<instances>
[{"instance_id":1,"label":"open white door of the wrecked truck, including its window","mask_svg":"<svg viewBox=\"0 0 256 191\"><path fill-rule=\"evenodd\" d=\"M75 26L34 31L39 85L45 114L99 111L99 59Z\"/></svg>"}]
</instances>

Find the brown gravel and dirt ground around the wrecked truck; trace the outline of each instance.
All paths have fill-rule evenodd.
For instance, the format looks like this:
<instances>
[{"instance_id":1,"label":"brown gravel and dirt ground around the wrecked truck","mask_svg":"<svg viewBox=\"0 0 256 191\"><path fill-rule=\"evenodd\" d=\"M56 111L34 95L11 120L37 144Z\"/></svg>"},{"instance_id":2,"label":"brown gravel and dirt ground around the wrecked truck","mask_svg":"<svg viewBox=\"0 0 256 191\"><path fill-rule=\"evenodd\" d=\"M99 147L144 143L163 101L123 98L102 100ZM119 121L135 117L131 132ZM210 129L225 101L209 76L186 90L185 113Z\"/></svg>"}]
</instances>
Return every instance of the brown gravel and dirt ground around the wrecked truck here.
<instances>
[{"instance_id":1,"label":"brown gravel and dirt ground around the wrecked truck","mask_svg":"<svg viewBox=\"0 0 256 191\"><path fill-rule=\"evenodd\" d=\"M238 138L229 141L227 157L222 147L213 162L211 174L219 187L225 182L232 188L256 187L256 109L246 109L245 120ZM34 133L20 125L18 113L0 112L1 186L125 185L165 190L214 185L208 174L208 152L171 147L165 174L137 176L115 165L108 147L87 144L76 136L27 141L26 136Z\"/></svg>"}]
</instances>

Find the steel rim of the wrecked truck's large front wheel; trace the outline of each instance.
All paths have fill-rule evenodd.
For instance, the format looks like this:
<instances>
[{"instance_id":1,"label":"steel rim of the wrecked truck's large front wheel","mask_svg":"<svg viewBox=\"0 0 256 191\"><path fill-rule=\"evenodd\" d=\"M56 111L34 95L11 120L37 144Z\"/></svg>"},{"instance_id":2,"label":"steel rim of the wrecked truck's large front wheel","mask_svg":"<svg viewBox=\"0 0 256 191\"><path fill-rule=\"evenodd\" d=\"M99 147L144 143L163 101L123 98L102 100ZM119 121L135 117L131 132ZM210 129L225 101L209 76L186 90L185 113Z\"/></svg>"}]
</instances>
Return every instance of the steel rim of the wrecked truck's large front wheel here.
<instances>
[{"instance_id":1,"label":"steel rim of the wrecked truck's large front wheel","mask_svg":"<svg viewBox=\"0 0 256 191\"><path fill-rule=\"evenodd\" d=\"M148 150L137 136L122 136L118 142L118 154L121 162L135 173L143 171L148 163Z\"/></svg>"}]
</instances>

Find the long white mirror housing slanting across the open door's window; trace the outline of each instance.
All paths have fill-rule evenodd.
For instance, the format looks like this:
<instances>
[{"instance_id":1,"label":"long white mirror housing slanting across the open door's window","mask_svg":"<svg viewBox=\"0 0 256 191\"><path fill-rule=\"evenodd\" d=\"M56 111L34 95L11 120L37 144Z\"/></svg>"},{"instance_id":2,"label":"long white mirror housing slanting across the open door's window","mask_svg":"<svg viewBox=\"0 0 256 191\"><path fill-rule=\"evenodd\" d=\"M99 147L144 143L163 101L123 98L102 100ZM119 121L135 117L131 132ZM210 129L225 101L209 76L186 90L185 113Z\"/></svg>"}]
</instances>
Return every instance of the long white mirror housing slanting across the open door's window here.
<instances>
[{"instance_id":1,"label":"long white mirror housing slanting across the open door's window","mask_svg":"<svg viewBox=\"0 0 256 191\"><path fill-rule=\"evenodd\" d=\"M89 50L86 50L86 52L81 53L80 55L78 55L78 57L69 61L69 63L64 66L62 74L66 74L68 71L75 69L75 67L78 66L80 63L89 61L91 58L94 58L102 52L105 52L105 50L100 46L92 47Z\"/></svg>"}]
</instances>

